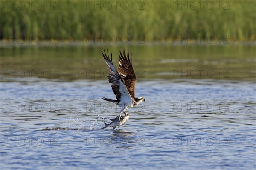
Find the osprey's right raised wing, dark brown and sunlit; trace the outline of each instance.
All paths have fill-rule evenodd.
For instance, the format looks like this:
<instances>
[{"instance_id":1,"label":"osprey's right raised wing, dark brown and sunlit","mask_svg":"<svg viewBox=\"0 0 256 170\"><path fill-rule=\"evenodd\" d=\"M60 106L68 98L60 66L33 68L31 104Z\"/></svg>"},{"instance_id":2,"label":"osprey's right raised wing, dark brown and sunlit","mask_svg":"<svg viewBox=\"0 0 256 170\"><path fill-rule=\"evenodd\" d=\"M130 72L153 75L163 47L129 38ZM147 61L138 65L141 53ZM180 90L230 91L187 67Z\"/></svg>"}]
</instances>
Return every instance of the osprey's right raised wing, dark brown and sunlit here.
<instances>
[{"instance_id":1,"label":"osprey's right raised wing, dark brown and sunlit","mask_svg":"<svg viewBox=\"0 0 256 170\"><path fill-rule=\"evenodd\" d=\"M118 73L122 77L125 82L126 88L129 91L129 94L135 99L135 85L136 85L136 75L134 73L134 69L132 67L132 54L131 59L129 57L129 49L127 52L127 56L125 55L125 49L123 54L119 51L119 66Z\"/></svg>"}]
</instances>

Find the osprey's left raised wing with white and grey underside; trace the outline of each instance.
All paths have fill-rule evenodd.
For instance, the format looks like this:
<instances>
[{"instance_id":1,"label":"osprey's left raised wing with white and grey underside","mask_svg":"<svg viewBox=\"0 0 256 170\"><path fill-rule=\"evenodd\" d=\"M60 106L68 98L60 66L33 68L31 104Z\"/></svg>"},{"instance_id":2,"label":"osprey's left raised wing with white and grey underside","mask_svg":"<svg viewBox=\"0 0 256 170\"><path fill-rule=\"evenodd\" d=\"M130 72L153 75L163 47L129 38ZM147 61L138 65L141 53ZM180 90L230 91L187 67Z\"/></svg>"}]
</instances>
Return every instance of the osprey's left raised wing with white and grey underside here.
<instances>
[{"instance_id":1,"label":"osprey's left raised wing with white and grey underside","mask_svg":"<svg viewBox=\"0 0 256 170\"><path fill-rule=\"evenodd\" d=\"M108 49L107 49L108 54ZM118 72L116 71L116 68L113 66L112 62L112 53L111 58L109 55L106 54L106 51L104 49L104 53L102 52L102 56L105 59L106 64L108 65L108 82L111 83L112 90L114 94L116 95L117 102L130 102L132 101L132 98L125 86L125 82L122 80Z\"/></svg>"}]
</instances>

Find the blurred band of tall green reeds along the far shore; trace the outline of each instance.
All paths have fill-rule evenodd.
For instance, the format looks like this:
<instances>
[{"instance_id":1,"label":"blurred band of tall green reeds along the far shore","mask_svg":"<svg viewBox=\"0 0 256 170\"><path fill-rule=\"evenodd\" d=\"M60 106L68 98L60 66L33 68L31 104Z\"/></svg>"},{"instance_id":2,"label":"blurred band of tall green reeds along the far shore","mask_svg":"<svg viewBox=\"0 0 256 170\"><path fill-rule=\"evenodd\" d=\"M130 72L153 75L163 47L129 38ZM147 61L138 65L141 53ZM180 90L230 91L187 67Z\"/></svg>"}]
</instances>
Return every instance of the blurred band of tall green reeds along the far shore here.
<instances>
[{"instance_id":1,"label":"blurred band of tall green reeds along the far shore","mask_svg":"<svg viewBox=\"0 0 256 170\"><path fill-rule=\"evenodd\" d=\"M199 35L203 39L255 40L255 0L122 2L1 0L0 38L86 40L125 35L130 40L143 36L154 41Z\"/></svg>"}]
</instances>

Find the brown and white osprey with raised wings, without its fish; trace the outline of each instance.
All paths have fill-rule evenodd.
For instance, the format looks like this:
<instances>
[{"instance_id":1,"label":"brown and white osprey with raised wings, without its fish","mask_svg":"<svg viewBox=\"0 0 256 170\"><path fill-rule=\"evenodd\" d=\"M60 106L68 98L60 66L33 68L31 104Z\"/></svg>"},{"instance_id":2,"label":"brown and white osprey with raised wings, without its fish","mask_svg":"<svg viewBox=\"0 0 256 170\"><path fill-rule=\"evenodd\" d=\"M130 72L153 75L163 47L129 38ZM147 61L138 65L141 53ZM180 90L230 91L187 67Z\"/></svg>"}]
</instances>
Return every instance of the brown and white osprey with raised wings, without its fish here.
<instances>
[{"instance_id":1,"label":"brown and white osprey with raised wings, without its fish","mask_svg":"<svg viewBox=\"0 0 256 170\"><path fill-rule=\"evenodd\" d=\"M111 83L112 90L116 95L116 100L102 98L103 100L113 102L116 105L121 107L119 119L121 118L122 112L125 112L128 108L132 108L136 105L139 105L140 102L145 102L143 97L135 97L135 84L136 84L136 75L134 73L134 69L132 67L132 54L131 59L129 57L129 50L127 52L127 56L125 55L125 49L123 54L119 51L119 66L116 68L113 66L112 62L112 52L111 58L107 54L104 49L104 53L102 52L102 56L105 59L105 62L108 66L109 76L108 82Z\"/></svg>"}]
</instances>

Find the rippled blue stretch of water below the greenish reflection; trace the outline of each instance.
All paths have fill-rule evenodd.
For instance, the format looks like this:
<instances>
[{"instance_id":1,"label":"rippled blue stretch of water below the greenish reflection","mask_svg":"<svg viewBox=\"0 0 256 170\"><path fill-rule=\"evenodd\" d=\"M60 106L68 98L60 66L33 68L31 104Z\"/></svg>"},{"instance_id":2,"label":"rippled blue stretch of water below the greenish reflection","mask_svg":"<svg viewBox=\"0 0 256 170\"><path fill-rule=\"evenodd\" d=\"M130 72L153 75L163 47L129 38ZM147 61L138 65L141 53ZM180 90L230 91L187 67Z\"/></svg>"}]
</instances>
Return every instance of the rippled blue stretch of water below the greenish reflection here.
<instances>
[{"instance_id":1,"label":"rippled blue stretch of water below the greenish reflection","mask_svg":"<svg viewBox=\"0 0 256 170\"><path fill-rule=\"evenodd\" d=\"M256 169L256 86L216 79L137 82L146 102L122 127L107 80L0 82L6 169Z\"/></svg>"}]
</instances>

